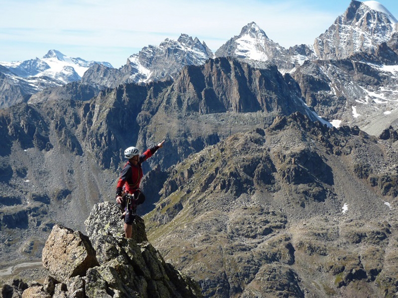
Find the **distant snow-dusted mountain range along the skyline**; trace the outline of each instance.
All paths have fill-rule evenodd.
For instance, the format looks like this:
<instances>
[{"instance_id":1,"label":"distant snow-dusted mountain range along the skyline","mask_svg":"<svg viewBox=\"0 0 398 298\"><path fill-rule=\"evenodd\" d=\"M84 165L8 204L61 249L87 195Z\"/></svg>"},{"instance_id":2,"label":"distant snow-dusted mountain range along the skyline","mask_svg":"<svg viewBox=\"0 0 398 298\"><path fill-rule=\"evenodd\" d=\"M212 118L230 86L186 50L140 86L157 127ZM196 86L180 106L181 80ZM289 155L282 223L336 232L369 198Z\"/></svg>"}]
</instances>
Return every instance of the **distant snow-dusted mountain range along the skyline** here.
<instances>
[{"instance_id":1,"label":"distant snow-dusted mountain range along the skyline","mask_svg":"<svg viewBox=\"0 0 398 298\"><path fill-rule=\"evenodd\" d=\"M42 59L0 62L0 107L26 101L30 95L46 88L70 82L114 88L123 83L146 83L173 78L185 65L201 65L215 57L249 60L261 67L272 61L283 73L310 60L347 59L358 53L375 54L383 43L390 48L397 40L397 19L375 1L352 1L313 45L297 45L285 49L270 40L252 22L244 26L213 54L204 42L182 34L177 41L166 39L159 46L144 47L130 56L119 69L110 63L71 58L51 50ZM391 45L393 44L393 45Z\"/></svg>"}]
</instances>

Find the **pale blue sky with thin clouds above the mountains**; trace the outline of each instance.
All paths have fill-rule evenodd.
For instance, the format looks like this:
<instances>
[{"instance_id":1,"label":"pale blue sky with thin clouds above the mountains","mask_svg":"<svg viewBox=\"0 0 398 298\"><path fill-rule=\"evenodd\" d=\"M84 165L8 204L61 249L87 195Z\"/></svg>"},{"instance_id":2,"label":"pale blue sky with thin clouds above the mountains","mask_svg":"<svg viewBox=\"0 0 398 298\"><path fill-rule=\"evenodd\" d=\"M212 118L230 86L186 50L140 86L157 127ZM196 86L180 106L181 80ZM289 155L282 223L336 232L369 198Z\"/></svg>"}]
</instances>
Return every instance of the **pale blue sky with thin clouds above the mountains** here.
<instances>
[{"instance_id":1,"label":"pale blue sky with thin clouds above the mountains","mask_svg":"<svg viewBox=\"0 0 398 298\"><path fill-rule=\"evenodd\" d=\"M313 44L350 0L0 0L0 61L48 50L110 62L182 34L215 52L254 21L285 48ZM398 1L379 0L397 19Z\"/></svg>"}]
</instances>

